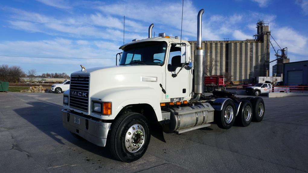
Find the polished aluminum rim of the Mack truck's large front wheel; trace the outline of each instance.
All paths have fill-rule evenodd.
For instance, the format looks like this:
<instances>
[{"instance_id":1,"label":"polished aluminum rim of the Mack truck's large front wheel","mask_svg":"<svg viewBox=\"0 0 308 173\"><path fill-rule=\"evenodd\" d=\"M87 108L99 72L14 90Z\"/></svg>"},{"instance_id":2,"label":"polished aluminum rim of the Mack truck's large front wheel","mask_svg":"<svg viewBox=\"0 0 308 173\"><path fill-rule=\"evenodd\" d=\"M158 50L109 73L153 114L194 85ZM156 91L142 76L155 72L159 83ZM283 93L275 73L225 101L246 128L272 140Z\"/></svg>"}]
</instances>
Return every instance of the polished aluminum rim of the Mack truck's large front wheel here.
<instances>
[{"instance_id":1,"label":"polished aluminum rim of the Mack truck's large front wheel","mask_svg":"<svg viewBox=\"0 0 308 173\"><path fill-rule=\"evenodd\" d=\"M125 147L127 151L134 153L140 150L145 142L145 131L142 125L132 125L125 135Z\"/></svg>"}]
</instances>

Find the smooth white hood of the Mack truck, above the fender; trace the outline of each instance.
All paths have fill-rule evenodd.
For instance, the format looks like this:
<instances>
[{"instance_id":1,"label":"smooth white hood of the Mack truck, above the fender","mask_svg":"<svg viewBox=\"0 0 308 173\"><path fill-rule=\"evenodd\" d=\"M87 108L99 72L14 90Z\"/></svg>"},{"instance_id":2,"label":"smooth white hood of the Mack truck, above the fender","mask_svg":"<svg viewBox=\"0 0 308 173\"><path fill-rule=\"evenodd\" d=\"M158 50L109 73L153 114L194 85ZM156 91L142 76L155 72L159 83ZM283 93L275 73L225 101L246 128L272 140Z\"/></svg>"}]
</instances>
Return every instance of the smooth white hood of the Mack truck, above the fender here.
<instances>
[{"instance_id":1,"label":"smooth white hood of the Mack truck, above the fender","mask_svg":"<svg viewBox=\"0 0 308 173\"><path fill-rule=\"evenodd\" d=\"M89 96L93 96L102 90L112 88L149 87L160 89L164 68L159 65L107 66L86 69L83 72L80 70L71 75L90 75ZM154 77L156 80L143 81L143 77Z\"/></svg>"}]
</instances>

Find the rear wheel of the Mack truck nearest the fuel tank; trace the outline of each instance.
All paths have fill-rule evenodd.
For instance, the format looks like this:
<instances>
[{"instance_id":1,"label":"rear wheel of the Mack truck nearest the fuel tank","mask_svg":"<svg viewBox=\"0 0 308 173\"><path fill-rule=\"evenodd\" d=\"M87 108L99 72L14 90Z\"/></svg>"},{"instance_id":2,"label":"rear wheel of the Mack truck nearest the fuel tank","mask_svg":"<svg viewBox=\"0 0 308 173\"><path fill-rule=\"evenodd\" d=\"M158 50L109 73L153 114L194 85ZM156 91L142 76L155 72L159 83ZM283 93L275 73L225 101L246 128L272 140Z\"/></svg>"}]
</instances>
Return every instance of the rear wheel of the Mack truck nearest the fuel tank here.
<instances>
[{"instance_id":1,"label":"rear wheel of the Mack truck nearest the fuel tank","mask_svg":"<svg viewBox=\"0 0 308 173\"><path fill-rule=\"evenodd\" d=\"M215 111L214 119L218 127L229 129L233 126L236 116L236 108L232 100L227 100L221 111Z\"/></svg>"}]
</instances>

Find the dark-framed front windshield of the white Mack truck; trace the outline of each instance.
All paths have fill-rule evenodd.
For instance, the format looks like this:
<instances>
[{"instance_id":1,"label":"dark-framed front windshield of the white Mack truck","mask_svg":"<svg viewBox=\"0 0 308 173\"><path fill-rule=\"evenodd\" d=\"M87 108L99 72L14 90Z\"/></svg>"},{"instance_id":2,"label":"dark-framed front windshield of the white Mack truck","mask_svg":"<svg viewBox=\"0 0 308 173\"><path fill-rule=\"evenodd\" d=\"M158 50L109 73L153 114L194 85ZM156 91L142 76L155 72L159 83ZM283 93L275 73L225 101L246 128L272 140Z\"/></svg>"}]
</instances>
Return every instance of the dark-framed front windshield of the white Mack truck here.
<instances>
[{"instance_id":1,"label":"dark-framed front windshield of the white Mack truck","mask_svg":"<svg viewBox=\"0 0 308 173\"><path fill-rule=\"evenodd\" d=\"M128 45L124 48L120 65L163 65L167 43L149 41Z\"/></svg>"}]
</instances>

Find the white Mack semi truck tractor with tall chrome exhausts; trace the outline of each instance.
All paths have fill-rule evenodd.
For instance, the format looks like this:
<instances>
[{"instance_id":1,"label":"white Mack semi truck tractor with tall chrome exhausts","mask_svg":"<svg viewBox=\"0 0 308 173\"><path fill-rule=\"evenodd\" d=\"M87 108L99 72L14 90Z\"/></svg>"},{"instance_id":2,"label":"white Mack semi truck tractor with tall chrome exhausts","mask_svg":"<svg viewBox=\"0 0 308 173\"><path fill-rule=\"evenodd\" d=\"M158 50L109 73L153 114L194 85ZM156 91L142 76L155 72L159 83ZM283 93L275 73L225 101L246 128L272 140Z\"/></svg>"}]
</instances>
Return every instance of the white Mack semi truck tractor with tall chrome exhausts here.
<instances>
[{"instance_id":1,"label":"white Mack semi truck tractor with tall chrome exhausts","mask_svg":"<svg viewBox=\"0 0 308 173\"><path fill-rule=\"evenodd\" d=\"M248 126L261 121L262 98L238 99L230 92L204 96L204 51L201 17L197 47L160 33L120 47L117 66L84 69L71 74L63 94L63 126L78 139L109 146L116 159L132 162L148 148L151 135L166 142L164 133L181 134L215 121L229 129L235 121ZM117 60L116 60L117 61Z\"/></svg>"}]
</instances>

